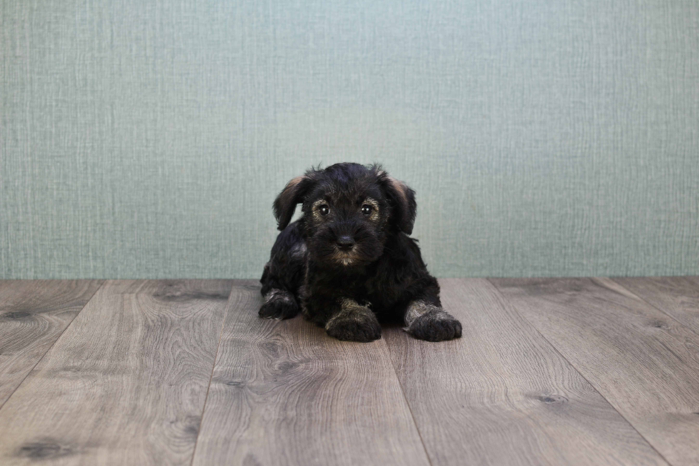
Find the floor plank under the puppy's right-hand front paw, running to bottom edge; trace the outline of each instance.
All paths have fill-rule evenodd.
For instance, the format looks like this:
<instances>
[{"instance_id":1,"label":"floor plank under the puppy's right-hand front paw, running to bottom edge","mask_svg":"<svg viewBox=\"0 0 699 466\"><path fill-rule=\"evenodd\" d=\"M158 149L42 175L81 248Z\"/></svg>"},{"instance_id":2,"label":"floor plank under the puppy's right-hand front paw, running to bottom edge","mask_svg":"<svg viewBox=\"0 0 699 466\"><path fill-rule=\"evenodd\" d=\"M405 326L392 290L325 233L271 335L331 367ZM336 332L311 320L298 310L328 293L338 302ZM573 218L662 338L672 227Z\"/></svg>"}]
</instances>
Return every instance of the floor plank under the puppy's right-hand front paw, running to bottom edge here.
<instances>
[{"instance_id":1,"label":"floor plank under the puppy's right-hand front paw, running to bottom edge","mask_svg":"<svg viewBox=\"0 0 699 466\"><path fill-rule=\"evenodd\" d=\"M488 280L440 279L459 340L386 339L432 465L664 465Z\"/></svg>"}]
</instances>

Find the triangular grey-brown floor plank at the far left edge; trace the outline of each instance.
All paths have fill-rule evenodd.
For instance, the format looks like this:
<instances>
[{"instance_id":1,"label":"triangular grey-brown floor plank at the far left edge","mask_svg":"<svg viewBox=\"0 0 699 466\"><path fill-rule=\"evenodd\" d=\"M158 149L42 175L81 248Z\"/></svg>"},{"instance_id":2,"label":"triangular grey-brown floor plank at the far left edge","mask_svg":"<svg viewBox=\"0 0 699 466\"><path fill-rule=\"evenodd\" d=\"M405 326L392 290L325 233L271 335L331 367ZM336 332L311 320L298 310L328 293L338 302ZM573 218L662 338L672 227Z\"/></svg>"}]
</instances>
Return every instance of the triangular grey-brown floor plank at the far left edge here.
<instances>
[{"instance_id":1,"label":"triangular grey-brown floor plank at the far left edge","mask_svg":"<svg viewBox=\"0 0 699 466\"><path fill-rule=\"evenodd\" d=\"M101 284L101 280L0 280L0 407Z\"/></svg>"}]
</instances>

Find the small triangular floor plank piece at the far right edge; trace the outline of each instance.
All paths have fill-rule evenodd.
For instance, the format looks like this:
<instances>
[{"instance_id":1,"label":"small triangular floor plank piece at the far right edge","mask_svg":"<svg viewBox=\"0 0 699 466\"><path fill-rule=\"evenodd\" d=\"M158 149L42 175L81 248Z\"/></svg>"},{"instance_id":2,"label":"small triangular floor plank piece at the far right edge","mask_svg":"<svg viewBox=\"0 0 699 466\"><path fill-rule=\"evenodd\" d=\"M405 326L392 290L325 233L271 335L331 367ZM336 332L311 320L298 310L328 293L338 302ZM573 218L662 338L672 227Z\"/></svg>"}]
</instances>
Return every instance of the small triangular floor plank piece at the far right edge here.
<instances>
[{"instance_id":1,"label":"small triangular floor plank piece at the far right edge","mask_svg":"<svg viewBox=\"0 0 699 466\"><path fill-rule=\"evenodd\" d=\"M613 278L613 280L699 333L698 277Z\"/></svg>"}]
</instances>

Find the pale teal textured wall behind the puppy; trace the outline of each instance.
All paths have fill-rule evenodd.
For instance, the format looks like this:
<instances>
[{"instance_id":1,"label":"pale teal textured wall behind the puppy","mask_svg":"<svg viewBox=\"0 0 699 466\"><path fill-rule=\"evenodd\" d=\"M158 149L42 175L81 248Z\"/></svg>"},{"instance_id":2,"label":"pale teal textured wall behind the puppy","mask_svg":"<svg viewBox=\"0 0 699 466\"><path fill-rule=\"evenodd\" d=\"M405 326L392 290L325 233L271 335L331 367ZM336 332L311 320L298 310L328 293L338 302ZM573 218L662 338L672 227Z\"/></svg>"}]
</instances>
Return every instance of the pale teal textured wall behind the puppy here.
<instances>
[{"instance_id":1,"label":"pale teal textured wall behind the puppy","mask_svg":"<svg viewBox=\"0 0 699 466\"><path fill-rule=\"evenodd\" d=\"M258 277L337 161L437 276L699 275L696 0L0 5L0 278Z\"/></svg>"}]
</instances>

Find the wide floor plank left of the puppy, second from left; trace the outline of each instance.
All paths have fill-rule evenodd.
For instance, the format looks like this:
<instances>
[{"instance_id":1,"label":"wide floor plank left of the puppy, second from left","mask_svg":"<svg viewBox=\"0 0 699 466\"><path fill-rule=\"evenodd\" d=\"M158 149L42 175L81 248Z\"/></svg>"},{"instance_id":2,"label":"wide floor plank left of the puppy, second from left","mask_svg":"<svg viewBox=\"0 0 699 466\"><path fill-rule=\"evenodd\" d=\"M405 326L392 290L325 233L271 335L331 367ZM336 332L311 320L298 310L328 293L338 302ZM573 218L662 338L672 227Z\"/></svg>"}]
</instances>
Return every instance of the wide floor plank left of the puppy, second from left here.
<instances>
[{"instance_id":1,"label":"wide floor plank left of the puppy, second from left","mask_svg":"<svg viewBox=\"0 0 699 466\"><path fill-rule=\"evenodd\" d=\"M105 283L0 410L0 464L189 464L231 285Z\"/></svg>"}]
</instances>

